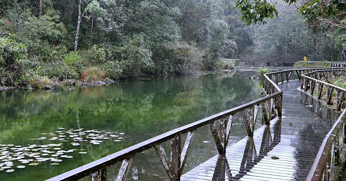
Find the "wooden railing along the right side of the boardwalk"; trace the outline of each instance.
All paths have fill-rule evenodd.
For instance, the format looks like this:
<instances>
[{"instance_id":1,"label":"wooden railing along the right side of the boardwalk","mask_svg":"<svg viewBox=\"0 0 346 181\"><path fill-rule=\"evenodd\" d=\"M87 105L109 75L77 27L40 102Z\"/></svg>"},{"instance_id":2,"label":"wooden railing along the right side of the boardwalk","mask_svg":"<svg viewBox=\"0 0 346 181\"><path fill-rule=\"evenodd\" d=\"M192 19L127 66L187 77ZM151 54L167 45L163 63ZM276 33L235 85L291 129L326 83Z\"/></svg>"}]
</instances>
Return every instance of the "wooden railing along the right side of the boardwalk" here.
<instances>
[{"instance_id":1,"label":"wooden railing along the right side of the boardwalk","mask_svg":"<svg viewBox=\"0 0 346 181\"><path fill-rule=\"evenodd\" d=\"M318 80L321 77L325 77L327 74L333 74L334 76L344 75L346 68L331 69L331 70L319 70L313 71L301 75L302 84L301 88L305 91L310 90L310 94L317 90L317 97L326 101L327 104L332 104L331 99L335 99L335 108L340 110L345 104L346 89L334 86L327 82ZM326 93L321 97L322 90ZM333 91L335 94L333 95ZM320 180L335 180L339 176L340 168L344 166L343 155L345 150L343 146L345 143L345 126L346 126L346 109L339 116L338 120L333 125L332 129L326 135L326 138L321 144L321 147L316 155L316 159L309 171L307 181L320 181ZM338 168L337 168L338 167ZM334 170L338 169L338 170Z\"/></svg>"}]
</instances>

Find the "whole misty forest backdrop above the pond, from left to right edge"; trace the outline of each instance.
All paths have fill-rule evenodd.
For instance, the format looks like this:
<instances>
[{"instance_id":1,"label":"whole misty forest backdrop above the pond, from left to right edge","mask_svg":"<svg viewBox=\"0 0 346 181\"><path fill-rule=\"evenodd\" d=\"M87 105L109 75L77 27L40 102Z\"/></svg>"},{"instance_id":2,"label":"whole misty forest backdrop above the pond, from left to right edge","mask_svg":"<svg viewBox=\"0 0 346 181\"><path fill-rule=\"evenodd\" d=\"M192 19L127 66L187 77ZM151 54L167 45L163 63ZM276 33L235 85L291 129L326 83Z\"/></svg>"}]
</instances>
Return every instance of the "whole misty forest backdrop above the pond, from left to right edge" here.
<instances>
[{"instance_id":1,"label":"whole misty forest backdrop above the pond, from left to right edge","mask_svg":"<svg viewBox=\"0 0 346 181\"><path fill-rule=\"evenodd\" d=\"M339 61L343 14L309 3L2 0L0 86L188 75L221 69L232 54Z\"/></svg>"}]
</instances>

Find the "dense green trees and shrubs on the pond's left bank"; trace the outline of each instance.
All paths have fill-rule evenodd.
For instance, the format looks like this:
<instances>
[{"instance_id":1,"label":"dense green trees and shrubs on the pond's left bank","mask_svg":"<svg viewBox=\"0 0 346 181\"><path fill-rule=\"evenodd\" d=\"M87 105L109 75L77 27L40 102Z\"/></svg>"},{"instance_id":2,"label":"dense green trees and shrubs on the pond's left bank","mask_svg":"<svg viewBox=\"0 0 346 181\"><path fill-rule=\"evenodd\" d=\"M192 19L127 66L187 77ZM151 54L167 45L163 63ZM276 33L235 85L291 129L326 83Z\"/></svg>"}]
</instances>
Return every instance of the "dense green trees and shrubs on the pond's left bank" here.
<instances>
[{"instance_id":1,"label":"dense green trees and shrubs on the pond's left bank","mask_svg":"<svg viewBox=\"0 0 346 181\"><path fill-rule=\"evenodd\" d=\"M111 79L191 74L232 53L220 0L4 0L0 86L30 76L80 78L99 67Z\"/></svg>"}]
</instances>

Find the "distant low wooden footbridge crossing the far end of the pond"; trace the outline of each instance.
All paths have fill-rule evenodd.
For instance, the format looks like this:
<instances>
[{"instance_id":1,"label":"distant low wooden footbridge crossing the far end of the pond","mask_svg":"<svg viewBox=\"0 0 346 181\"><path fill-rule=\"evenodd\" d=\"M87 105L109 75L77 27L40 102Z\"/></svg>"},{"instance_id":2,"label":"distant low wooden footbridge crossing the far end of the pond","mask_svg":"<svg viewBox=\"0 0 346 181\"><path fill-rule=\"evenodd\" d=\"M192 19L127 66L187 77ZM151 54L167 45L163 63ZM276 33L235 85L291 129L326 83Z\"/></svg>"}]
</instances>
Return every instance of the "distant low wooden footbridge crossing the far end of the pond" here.
<instances>
[{"instance_id":1,"label":"distant low wooden footbridge crossing the far end of the pond","mask_svg":"<svg viewBox=\"0 0 346 181\"><path fill-rule=\"evenodd\" d=\"M239 65L276 65L291 66L297 61L303 61L304 56L296 55L232 55Z\"/></svg>"}]
</instances>

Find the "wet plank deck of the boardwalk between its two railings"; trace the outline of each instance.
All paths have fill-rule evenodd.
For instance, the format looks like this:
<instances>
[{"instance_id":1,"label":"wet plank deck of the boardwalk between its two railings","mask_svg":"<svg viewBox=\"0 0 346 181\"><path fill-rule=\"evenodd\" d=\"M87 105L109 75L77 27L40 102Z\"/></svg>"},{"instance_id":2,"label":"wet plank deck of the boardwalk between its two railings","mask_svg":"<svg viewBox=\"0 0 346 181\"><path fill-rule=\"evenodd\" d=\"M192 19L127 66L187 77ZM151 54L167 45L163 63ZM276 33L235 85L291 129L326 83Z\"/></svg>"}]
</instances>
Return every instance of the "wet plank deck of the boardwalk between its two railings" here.
<instances>
[{"instance_id":1,"label":"wet plank deck of the boardwalk between its two railings","mask_svg":"<svg viewBox=\"0 0 346 181\"><path fill-rule=\"evenodd\" d=\"M279 87L284 92L282 118L257 129L253 138L229 146L225 155L215 155L183 174L181 180L305 180L339 114L298 90L300 81Z\"/></svg>"}]
</instances>

